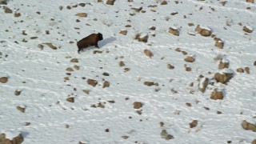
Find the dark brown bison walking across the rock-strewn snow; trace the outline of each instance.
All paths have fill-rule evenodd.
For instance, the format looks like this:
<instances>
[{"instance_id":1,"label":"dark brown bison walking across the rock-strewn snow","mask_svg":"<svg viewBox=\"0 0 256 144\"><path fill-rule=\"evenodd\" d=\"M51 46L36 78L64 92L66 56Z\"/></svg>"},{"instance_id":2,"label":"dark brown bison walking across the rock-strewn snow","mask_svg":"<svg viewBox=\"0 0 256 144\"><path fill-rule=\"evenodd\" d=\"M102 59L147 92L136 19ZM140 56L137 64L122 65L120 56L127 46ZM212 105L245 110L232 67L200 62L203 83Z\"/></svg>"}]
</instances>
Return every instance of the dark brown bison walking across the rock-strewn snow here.
<instances>
[{"instance_id":1,"label":"dark brown bison walking across the rock-strewn snow","mask_svg":"<svg viewBox=\"0 0 256 144\"><path fill-rule=\"evenodd\" d=\"M80 51L88 46L98 47L98 41L101 41L102 39L103 39L103 36L101 33L90 34L86 38L82 38L80 41L77 42L78 54L80 54Z\"/></svg>"}]
</instances>

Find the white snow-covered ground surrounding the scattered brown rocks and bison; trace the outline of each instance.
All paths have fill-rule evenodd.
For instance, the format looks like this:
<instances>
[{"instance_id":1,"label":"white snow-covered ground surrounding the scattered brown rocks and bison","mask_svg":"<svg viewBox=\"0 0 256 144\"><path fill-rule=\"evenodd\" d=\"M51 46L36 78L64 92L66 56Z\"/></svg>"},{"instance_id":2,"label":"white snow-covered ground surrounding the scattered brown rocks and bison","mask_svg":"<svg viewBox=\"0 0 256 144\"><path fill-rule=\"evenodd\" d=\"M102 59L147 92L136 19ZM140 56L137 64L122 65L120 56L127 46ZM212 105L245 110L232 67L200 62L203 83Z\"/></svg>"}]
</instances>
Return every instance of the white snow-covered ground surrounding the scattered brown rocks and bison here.
<instances>
[{"instance_id":1,"label":"white snow-covered ground surrounding the scattered brown rocks and bison","mask_svg":"<svg viewBox=\"0 0 256 144\"><path fill-rule=\"evenodd\" d=\"M83 7L78 5L81 2L8 1L12 14L1 6L0 78L7 77L8 82L0 82L0 133L22 133L24 144L247 144L256 138L255 132L241 126L243 120L256 123L256 33L242 30L256 26L255 4L178 0L161 5L155 0L124 0L109 6L94 0L83 1ZM131 9L141 6L139 12ZM230 19L232 25L227 26ZM188 26L191 22L194 26ZM214 38L188 34L197 25L208 26L224 39L224 49L214 46ZM152 26L156 30L149 30ZM171 26L180 28L179 36L168 33ZM121 30L127 34L119 34ZM78 54L75 39L98 32L103 35L100 48L91 46ZM148 42L134 40L141 33L149 34ZM38 44L44 46L42 50ZM185 62L187 55L177 48L193 54L196 61ZM146 56L145 49L154 56ZM212 80L221 71L214 60L219 54L225 55L234 72L226 85ZM70 62L72 58L78 62ZM174 69L168 69L168 64ZM246 66L250 74L236 74L236 69ZM203 94L198 91L200 75L212 82ZM90 86L88 79L97 80L97 86ZM110 86L103 88L106 81ZM225 91L223 100L210 99L215 88ZM15 95L16 90L21 94ZM134 109L134 102L142 102L142 107ZM17 106L25 106L26 111ZM198 125L190 128L193 120ZM162 130L174 138L162 138Z\"/></svg>"}]
</instances>

